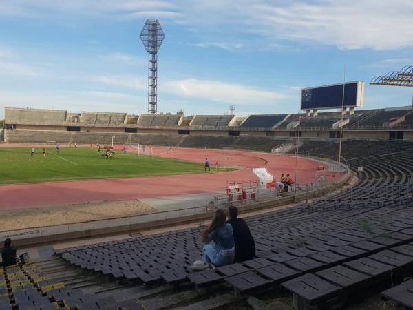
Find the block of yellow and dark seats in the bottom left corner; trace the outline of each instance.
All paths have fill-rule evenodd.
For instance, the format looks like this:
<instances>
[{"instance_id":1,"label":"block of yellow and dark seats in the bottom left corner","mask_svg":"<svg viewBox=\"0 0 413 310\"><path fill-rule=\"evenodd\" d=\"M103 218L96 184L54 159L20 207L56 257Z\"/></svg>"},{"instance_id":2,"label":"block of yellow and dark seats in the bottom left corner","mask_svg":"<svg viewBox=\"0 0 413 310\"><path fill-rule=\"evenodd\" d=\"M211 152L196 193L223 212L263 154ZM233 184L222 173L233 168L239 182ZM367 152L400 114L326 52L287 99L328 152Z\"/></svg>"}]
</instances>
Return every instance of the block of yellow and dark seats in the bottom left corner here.
<instances>
[{"instance_id":1,"label":"block of yellow and dark seats in the bottom left corner","mask_svg":"<svg viewBox=\"0 0 413 310\"><path fill-rule=\"evenodd\" d=\"M46 264L46 265L45 265ZM81 289L73 289L70 283L76 276L70 273L43 270L47 262L0 268L1 310L97 310L97 309L142 309L139 304L117 302L114 298L99 298Z\"/></svg>"}]
</instances>

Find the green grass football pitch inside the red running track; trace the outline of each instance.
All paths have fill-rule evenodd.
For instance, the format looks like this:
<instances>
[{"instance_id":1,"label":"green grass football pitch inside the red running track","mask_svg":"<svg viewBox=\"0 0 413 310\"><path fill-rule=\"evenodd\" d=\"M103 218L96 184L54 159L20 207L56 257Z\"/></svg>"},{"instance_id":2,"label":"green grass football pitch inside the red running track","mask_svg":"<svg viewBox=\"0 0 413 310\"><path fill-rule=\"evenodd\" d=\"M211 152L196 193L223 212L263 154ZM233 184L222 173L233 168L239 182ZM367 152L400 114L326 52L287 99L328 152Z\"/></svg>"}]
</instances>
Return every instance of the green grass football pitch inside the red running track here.
<instances>
[{"instance_id":1,"label":"green grass football pitch inside the red running track","mask_svg":"<svg viewBox=\"0 0 413 310\"><path fill-rule=\"evenodd\" d=\"M96 149L63 148L57 154L56 149L49 148L45 157L42 148L35 148L33 157L30 149L0 148L0 184L168 176L204 171L202 163L123 154L121 151L117 151L113 158L105 159ZM218 169L220 171L224 170Z\"/></svg>"}]
</instances>

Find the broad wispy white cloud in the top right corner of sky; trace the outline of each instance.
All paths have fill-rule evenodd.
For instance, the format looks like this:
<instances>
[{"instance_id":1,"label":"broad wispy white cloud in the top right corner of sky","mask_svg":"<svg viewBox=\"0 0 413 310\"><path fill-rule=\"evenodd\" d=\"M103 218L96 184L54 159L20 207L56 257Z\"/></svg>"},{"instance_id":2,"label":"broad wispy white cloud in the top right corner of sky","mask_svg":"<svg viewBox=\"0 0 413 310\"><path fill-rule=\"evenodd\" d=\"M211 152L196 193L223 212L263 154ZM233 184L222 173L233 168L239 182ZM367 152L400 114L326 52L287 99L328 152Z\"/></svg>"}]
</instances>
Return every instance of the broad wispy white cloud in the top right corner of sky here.
<instances>
[{"instance_id":1,"label":"broad wispy white cloud in the top right corner of sky","mask_svg":"<svg viewBox=\"0 0 413 310\"><path fill-rule=\"evenodd\" d=\"M410 1L326 0L295 1L286 7L255 5L250 16L266 26L262 32L268 36L343 49L391 50L413 45L412 13Z\"/></svg>"}]
</instances>

